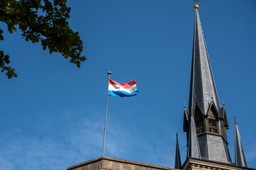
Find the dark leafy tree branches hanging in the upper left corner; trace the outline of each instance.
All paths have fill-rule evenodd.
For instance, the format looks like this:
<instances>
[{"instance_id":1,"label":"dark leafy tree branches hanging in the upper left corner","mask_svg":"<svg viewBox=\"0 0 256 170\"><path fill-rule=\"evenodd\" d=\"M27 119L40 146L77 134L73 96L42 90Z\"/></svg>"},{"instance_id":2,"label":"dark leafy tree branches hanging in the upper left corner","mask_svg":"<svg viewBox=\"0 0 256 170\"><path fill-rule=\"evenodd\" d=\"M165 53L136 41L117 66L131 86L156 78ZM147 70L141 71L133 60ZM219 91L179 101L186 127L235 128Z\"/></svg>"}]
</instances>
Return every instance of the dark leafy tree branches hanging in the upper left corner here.
<instances>
[{"instance_id":1,"label":"dark leafy tree branches hanging in the upper left corner","mask_svg":"<svg viewBox=\"0 0 256 170\"><path fill-rule=\"evenodd\" d=\"M41 42L43 50L60 52L63 57L80 67L86 58L81 55L82 40L77 32L74 33L69 28L69 11L66 0L0 1L0 21L7 24L9 33L19 28L26 41ZM1 29L0 40L4 40ZM4 55L0 50L1 72L6 72L9 79L17 77L14 69L8 66L9 63L9 55Z\"/></svg>"}]
</instances>

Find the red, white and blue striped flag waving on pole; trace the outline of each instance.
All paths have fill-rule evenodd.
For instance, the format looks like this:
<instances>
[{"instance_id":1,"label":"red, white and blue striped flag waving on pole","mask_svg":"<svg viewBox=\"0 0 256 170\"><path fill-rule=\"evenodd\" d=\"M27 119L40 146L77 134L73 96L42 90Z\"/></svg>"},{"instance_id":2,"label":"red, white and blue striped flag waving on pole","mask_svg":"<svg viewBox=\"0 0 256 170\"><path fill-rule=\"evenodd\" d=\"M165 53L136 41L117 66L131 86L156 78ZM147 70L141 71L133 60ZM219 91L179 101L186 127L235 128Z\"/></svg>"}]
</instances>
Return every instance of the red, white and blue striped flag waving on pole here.
<instances>
[{"instance_id":1,"label":"red, white and blue striped flag waving on pole","mask_svg":"<svg viewBox=\"0 0 256 170\"><path fill-rule=\"evenodd\" d=\"M139 93L136 88L136 81L132 81L121 84L116 81L109 79L108 81L108 96L119 96L119 97L130 97L135 96Z\"/></svg>"}]
</instances>

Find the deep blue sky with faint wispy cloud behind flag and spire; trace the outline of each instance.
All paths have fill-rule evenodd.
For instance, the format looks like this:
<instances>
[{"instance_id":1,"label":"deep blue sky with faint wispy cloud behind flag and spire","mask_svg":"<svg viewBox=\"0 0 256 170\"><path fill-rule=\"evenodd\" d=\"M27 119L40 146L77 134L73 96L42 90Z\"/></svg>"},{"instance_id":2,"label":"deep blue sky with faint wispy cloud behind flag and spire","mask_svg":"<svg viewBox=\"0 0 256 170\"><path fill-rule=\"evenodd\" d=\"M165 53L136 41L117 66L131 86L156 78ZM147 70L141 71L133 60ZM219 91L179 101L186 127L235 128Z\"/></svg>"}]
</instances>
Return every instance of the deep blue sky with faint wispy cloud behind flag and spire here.
<instances>
[{"instance_id":1,"label":"deep blue sky with faint wispy cloud behind flag and spire","mask_svg":"<svg viewBox=\"0 0 256 170\"><path fill-rule=\"evenodd\" d=\"M108 71L121 83L136 79L140 94L109 98L105 156L174 167L178 132L184 162L194 1L67 4L88 58L79 69L0 23L0 48L18 72L16 79L0 74L0 169L63 170L101 157ZM232 160L236 115L247 164L256 168L256 1L199 6L218 96L226 103Z\"/></svg>"}]
</instances>

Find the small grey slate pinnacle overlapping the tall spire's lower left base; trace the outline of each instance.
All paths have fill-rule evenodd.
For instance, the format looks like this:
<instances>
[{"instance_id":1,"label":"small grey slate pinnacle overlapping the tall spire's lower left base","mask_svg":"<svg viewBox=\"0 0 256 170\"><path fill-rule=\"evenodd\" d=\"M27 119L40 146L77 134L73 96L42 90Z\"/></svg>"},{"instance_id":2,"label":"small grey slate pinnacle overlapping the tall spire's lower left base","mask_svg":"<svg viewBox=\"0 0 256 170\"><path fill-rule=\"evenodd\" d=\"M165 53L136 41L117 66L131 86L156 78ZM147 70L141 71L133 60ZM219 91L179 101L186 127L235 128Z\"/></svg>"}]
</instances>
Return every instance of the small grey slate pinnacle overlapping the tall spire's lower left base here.
<instances>
[{"instance_id":1,"label":"small grey slate pinnacle overlapping the tall spire's lower left base","mask_svg":"<svg viewBox=\"0 0 256 170\"><path fill-rule=\"evenodd\" d=\"M189 146L187 150L187 157L199 158L201 159L199 141L196 135L196 125L194 123L194 118L190 118L190 128L189 128Z\"/></svg>"}]
</instances>

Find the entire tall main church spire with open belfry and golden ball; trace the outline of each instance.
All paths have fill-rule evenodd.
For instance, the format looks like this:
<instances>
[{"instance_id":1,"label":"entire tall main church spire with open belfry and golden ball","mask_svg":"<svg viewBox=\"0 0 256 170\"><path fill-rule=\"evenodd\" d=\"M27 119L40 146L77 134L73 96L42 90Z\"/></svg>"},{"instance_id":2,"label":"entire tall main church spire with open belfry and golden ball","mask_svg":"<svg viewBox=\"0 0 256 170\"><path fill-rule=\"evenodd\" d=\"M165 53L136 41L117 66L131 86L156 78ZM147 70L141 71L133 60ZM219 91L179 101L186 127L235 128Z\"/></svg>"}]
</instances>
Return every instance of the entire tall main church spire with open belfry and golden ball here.
<instances>
[{"instance_id":1,"label":"entire tall main church spire with open belfry and golden ball","mask_svg":"<svg viewBox=\"0 0 256 170\"><path fill-rule=\"evenodd\" d=\"M187 157L231 162L226 130L228 119L221 108L208 57L204 33L194 5L194 43L191 63L189 108L184 109L184 131L187 132Z\"/></svg>"}]
</instances>

